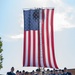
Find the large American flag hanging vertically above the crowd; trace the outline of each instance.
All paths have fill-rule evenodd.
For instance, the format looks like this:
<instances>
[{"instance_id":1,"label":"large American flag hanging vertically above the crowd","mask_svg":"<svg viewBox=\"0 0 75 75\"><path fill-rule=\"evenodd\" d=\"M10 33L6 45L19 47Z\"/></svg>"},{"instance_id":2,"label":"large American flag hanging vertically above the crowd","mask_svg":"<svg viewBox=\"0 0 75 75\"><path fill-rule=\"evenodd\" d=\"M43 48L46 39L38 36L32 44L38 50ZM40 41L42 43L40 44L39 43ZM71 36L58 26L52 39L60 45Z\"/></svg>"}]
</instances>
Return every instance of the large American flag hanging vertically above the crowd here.
<instances>
[{"instance_id":1,"label":"large American flag hanging vertically above the crowd","mask_svg":"<svg viewBox=\"0 0 75 75\"><path fill-rule=\"evenodd\" d=\"M23 66L58 68L54 50L54 9L29 9L23 13Z\"/></svg>"}]
</instances>

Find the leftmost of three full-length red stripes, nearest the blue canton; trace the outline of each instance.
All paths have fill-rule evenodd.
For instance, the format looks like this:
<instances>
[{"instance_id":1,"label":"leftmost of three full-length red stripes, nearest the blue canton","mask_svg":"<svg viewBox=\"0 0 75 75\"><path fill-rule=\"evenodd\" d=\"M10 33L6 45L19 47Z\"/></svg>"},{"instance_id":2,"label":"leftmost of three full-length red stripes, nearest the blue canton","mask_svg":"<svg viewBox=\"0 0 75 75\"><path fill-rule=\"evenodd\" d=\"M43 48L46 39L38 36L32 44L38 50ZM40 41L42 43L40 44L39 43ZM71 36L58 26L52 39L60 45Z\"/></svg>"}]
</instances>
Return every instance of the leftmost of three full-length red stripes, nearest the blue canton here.
<instances>
[{"instance_id":1,"label":"leftmost of three full-length red stripes, nearest the blue canton","mask_svg":"<svg viewBox=\"0 0 75 75\"><path fill-rule=\"evenodd\" d=\"M42 10L42 53L43 53L43 63L46 67L46 58L45 58L45 41L44 41L44 10Z\"/></svg>"}]
</instances>

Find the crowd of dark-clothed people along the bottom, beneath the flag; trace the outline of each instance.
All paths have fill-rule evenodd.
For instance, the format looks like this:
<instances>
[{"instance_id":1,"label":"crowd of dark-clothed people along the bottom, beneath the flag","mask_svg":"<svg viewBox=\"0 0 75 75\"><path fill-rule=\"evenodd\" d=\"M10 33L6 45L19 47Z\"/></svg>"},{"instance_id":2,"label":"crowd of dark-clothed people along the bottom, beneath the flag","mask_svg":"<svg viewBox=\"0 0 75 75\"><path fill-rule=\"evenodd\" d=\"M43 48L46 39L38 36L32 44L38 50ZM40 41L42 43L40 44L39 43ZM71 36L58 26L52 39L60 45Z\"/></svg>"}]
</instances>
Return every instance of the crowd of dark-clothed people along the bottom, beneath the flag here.
<instances>
[{"instance_id":1,"label":"crowd of dark-clothed people along the bottom, beneath the flag","mask_svg":"<svg viewBox=\"0 0 75 75\"><path fill-rule=\"evenodd\" d=\"M67 68L65 67L62 69L47 69L46 71L41 71L40 68L36 69L36 71L28 72L28 71L19 71L17 70L16 73L14 73L14 67L11 68L10 72L7 72L7 75L72 75L70 72L68 72Z\"/></svg>"}]
</instances>

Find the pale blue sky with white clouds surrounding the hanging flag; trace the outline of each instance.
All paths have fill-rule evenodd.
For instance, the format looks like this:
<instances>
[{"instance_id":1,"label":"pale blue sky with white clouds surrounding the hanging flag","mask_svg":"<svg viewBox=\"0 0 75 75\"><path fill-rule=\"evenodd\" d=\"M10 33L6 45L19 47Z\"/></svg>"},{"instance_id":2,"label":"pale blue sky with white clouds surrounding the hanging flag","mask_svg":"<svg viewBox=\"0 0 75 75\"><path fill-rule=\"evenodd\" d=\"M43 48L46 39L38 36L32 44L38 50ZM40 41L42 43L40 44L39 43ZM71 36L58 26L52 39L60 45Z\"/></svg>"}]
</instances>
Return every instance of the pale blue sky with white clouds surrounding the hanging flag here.
<instances>
[{"instance_id":1,"label":"pale blue sky with white clouds surrounding the hanging flag","mask_svg":"<svg viewBox=\"0 0 75 75\"><path fill-rule=\"evenodd\" d=\"M22 67L23 9L54 7L55 55L59 68L75 68L75 0L0 0L0 37L3 68L0 73L36 68Z\"/></svg>"}]
</instances>

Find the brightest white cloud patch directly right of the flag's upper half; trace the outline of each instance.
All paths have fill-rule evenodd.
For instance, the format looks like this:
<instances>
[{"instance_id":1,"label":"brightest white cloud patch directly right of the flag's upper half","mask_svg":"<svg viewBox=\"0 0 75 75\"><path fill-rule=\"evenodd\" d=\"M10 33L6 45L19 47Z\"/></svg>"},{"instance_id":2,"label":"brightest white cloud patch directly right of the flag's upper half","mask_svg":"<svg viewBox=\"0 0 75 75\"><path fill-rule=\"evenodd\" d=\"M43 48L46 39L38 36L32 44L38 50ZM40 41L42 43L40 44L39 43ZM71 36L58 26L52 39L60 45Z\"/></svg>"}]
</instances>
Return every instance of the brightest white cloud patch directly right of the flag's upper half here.
<instances>
[{"instance_id":1,"label":"brightest white cloud patch directly right of the flag's upper half","mask_svg":"<svg viewBox=\"0 0 75 75\"><path fill-rule=\"evenodd\" d=\"M72 15L68 15L69 12L65 11L65 12L56 12L54 15L54 29L55 31L59 31L62 30L64 28L72 28L75 27L74 24L72 24L73 21L73 16Z\"/></svg>"}]
</instances>

